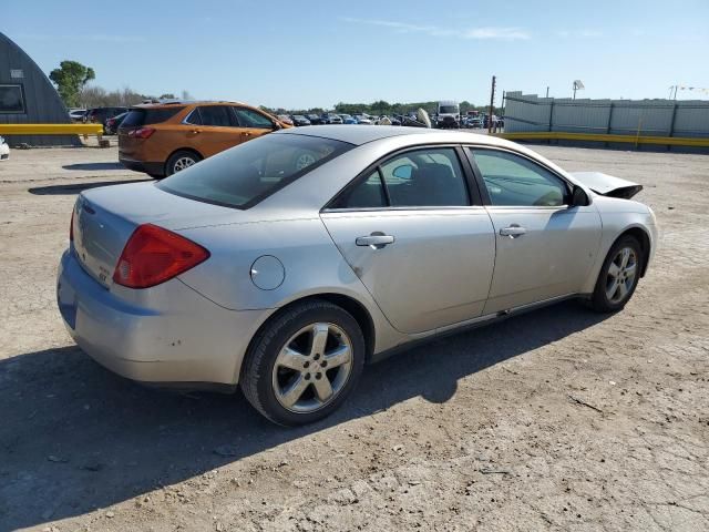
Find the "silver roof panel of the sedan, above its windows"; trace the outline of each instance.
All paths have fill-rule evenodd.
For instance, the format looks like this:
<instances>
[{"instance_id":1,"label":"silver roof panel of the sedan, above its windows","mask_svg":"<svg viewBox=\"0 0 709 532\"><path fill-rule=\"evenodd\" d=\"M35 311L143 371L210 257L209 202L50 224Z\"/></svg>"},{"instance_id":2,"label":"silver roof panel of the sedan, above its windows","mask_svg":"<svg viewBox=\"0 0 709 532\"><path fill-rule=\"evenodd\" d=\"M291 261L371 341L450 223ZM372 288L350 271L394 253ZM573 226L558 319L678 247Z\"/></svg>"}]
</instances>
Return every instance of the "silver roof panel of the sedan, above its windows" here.
<instances>
[{"instance_id":1,"label":"silver roof panel of the sedan, above its windows","mask_svg":"<svg viewBox=\"0 0 709 532\"><path fill-rule=\"evenodd\" d=\"M362 125L362 124L342 124L342 125L311 125L305 129L280 130L275 133L278 135L307 135L331 139L333 141L348 142L354 145L367 144L368 142L379 141L392 136L402 135L439 135L440 142L474 142L476 144L503 145L506 144L502 139L495 136L481 135L470 133L467 131L444 131L432 130L427 127L408 127L402 125ZM432 139L433 140L433 139Z\"/></svg>"}]
</instances>

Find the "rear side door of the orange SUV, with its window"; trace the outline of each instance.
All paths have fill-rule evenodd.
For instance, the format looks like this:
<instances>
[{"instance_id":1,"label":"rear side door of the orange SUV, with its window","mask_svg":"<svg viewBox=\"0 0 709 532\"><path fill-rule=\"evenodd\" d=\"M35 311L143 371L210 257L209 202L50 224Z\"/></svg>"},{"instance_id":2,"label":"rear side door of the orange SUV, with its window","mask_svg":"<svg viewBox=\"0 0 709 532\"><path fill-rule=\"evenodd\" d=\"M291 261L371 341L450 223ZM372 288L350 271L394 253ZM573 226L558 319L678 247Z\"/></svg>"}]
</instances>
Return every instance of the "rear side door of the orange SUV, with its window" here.
<instances>
[{"instance_id":1,"label":"rear side door of the orange SUV, with its window","mask_svg":"<svg viewBox=\"0 0 709 532\"><path fill-rule=\"evenodd\" d=\"M205 157L236 146L242 132L228 105L198 105L183 121L183 147L192 147Z\"/></svg>"}]
</instances>

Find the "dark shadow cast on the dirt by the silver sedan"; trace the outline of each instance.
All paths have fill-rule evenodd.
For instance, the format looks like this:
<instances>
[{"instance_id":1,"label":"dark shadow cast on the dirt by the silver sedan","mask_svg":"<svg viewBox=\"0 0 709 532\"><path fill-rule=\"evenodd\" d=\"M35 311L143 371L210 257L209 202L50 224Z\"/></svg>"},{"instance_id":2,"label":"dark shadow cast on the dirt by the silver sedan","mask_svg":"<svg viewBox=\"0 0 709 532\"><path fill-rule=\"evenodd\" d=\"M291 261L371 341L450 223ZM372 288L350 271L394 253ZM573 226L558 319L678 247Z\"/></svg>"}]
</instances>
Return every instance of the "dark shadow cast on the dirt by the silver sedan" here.
<instances>
[{"instance_id":1,"label":"dark shadow cast on the dirt by the silver sedan","mask_svg":"<svg viewBox=\"0 0 709 532\"><path fill-rule=\"evenodd\" d=\"M603 319L569 301L417 347L369 366L338 412L298 429L270 424L240 393L143 388L75 347L0 360L0 529L122 502L412 397L445 402L459 379ZM225 444L234 456L215 453Z\"/></svg>"}]
</instances>

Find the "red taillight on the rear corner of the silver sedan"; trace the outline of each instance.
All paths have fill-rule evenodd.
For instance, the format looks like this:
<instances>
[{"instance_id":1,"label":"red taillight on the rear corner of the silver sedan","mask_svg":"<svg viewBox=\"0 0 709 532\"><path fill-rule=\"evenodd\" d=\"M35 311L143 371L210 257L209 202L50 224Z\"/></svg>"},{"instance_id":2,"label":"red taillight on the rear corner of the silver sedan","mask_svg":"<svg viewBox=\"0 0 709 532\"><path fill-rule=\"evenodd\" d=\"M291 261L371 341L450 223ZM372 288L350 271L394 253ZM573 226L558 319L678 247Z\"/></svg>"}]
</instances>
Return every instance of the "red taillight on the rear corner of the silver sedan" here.
<instances>
[{"instance_id":1,"label":"red taillight on the rear corner of the silver sedan","mask_svg":"<svg viewBox=\"0 0 709 532\"><path fill-rule=\"evenodd\" d=\"M209 258L209 252L172 231L141 225L125 245L113 280L129 288L160 285Z\"/></svg>"}]
</instances>

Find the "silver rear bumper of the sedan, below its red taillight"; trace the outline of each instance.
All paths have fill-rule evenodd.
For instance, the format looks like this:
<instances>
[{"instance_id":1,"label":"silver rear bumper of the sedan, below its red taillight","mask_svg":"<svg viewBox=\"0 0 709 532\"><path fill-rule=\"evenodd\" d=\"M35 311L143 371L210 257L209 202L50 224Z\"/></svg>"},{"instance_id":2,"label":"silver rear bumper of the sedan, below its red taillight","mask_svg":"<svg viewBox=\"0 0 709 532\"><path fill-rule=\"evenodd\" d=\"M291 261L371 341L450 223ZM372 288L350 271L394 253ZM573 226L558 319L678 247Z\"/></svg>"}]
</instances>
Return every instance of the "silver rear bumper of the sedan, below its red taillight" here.
<instances>
[{"instance_id":1,"label":"silver rear bumper of the sedan, below its red taillight","mask_svg":"<svg viewBox=\"0 0 709 532\"><path fill-rule=\"evenodd\" d=\"M72 252L61 258L60 313L74 341L99 364L143 382L237 383L248 342L268 311L227 310L178 279L151 290L148 304L126 303L89 276Z\"/></svg>"}]
</instances>

